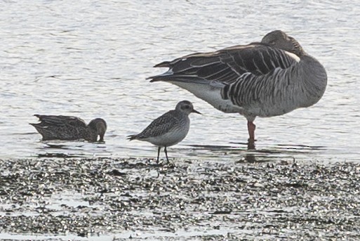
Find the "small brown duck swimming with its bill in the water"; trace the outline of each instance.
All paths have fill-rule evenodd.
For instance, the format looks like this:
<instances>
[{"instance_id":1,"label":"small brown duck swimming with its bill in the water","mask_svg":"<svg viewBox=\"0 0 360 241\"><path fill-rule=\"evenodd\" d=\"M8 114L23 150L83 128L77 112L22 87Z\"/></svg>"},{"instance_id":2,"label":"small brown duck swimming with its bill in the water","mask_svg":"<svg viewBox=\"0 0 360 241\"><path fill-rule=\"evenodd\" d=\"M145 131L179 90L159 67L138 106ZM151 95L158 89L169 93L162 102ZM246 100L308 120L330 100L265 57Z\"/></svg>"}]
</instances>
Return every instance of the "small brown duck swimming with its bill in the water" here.
<instances>
[{"instance_id":1,"label":"small brown duck swimming with its bill in the water","mask_svg":"<svg viewBox=\"0 0 360 241\"><path fill-rule=\"evenodd\" d=\"M84 139L95 142L104 141L107 124L104 119L93 119L89 124L79 117L65 115L34 115L40 123L30 123L43 137L43 141L73 141Z\"/></svg>"}]
</instances>

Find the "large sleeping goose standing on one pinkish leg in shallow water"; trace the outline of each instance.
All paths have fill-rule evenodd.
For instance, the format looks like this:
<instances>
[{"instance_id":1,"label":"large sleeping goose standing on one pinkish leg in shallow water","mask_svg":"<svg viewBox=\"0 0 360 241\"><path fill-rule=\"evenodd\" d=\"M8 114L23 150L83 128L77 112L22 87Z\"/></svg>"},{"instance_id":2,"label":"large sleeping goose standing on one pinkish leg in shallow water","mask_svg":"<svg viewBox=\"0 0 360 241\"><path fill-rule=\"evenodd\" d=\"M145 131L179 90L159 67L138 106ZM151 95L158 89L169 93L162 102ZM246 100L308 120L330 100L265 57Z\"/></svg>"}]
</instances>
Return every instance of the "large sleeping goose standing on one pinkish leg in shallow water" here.
<instances>
[{"instance_id":1,"label":"large sleeping goose standing on one pinkish leg in shallow water","mask_svg":"<svg viewBox=\"0 0 360 241\"><path fill-rule=\"evenodd\" d=\"M154 67L149 77L180 86L222 112L238 112L248 121L248 144L255 148L255 117L284 115L317 103L327 84L326 70L286 33L269 32L262 41L194 53Z\"/></svg>"}]
</instances>

